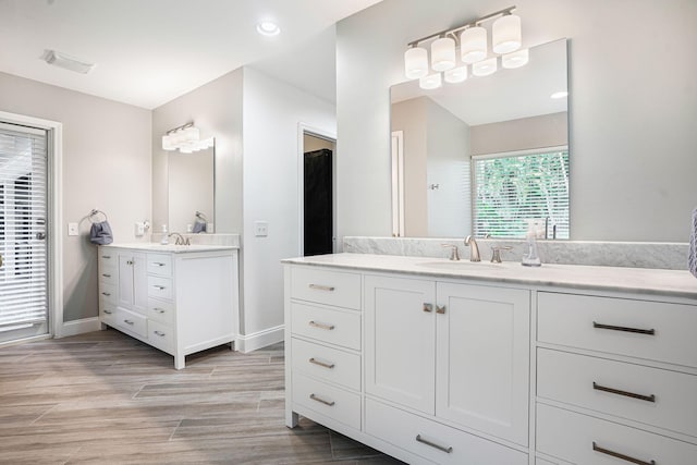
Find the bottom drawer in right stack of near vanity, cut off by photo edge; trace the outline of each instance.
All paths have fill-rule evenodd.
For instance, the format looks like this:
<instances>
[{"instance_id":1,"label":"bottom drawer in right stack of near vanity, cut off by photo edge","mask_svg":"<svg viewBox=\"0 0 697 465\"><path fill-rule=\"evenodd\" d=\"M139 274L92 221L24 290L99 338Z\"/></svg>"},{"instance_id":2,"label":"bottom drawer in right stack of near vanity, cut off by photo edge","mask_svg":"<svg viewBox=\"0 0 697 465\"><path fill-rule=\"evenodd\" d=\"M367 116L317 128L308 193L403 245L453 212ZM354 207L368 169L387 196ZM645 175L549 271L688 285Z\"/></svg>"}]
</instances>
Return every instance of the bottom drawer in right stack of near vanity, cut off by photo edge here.
<instances>
[{"instance_id":1,"label":"bottom drawer in right stack of near vanity, cut off by photo edge","mask_svg":"<svg viewBox=\"0 0 697 465\"><path fill-rule=\"evenodd\" d=\"M575 464L697 463L697 445L543 404L537 406L537 449Z\"/></svg>"}]
</instances>

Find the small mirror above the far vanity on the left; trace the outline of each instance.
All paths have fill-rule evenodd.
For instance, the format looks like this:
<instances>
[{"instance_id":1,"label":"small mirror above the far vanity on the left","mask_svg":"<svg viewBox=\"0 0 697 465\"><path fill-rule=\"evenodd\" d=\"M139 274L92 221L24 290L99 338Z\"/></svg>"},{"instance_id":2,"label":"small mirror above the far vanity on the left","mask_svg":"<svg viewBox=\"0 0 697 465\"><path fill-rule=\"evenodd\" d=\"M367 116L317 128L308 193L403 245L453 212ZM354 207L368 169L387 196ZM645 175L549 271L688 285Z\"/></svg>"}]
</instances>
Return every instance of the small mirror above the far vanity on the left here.
<instances>
[{"instance_id":1,"label":"small mirror above the far vanity on the left","mask_svg":"<svg viewBox=\"0 0 697 465\"><path fill-rule=\"evenodd\" d=\"M215 148L193 154L170 151L167 161L169 230L194 232L197 211L208 223L212 223Z\"/></svg>"}]
</instances>

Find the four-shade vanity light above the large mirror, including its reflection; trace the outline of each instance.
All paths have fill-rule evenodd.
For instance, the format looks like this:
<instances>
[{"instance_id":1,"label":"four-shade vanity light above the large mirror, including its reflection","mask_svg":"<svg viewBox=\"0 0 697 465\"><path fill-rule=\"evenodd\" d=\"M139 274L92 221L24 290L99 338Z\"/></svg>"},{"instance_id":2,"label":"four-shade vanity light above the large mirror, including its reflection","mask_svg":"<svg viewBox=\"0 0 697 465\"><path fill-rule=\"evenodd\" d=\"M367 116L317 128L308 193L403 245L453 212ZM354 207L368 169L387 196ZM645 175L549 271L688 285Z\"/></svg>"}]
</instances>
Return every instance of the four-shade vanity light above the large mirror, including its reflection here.
<instances>
[{"instance_id":1,"label":"four-shade vanity light above the large mirror, including its reflection","mask_svg":"<svg viewBox=\"0 0 697 465\"><path fill-rule=\"evenodd\" d=\"M501 54L501 65L519 68L528 62L528 51L518 50L522 45L521 17L513 14L516 7L478 17L462 26L441 30L411 41L404 52L404 74L408 79L419 79L424 89L433 89L447 83L462 83L467 78L467 65L472 75L488 76L498 70L498 58L488 53L488 32L484 23L493 21L491 50ZM431 41L430 70L428 49L421 42ZM460 58L461 63L457 60ZM457 70L457 71L455 71ZM441 75L441 72L444 72Z\"/></svg>"}]
</instances>

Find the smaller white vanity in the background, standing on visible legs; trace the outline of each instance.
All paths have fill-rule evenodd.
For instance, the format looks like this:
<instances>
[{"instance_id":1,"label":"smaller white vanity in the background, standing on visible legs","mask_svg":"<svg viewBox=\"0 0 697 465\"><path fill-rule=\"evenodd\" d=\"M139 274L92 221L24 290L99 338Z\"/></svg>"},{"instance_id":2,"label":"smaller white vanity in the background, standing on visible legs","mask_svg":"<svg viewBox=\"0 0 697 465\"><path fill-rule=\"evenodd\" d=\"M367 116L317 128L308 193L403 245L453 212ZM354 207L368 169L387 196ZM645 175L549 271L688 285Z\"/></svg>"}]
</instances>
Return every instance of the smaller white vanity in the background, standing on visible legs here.
<instances>
[{"instance_id":1,"label":"smaller white vanity in the background, standing on visible legs","mask_svg":"<svg viewBox=\"0 0 697 465\"><path fill-rule=\"evenodd\" d=\"M99 246L99 320L174 356L233 343L237 248L211 245Z\"/></svg>"}]
</instances>

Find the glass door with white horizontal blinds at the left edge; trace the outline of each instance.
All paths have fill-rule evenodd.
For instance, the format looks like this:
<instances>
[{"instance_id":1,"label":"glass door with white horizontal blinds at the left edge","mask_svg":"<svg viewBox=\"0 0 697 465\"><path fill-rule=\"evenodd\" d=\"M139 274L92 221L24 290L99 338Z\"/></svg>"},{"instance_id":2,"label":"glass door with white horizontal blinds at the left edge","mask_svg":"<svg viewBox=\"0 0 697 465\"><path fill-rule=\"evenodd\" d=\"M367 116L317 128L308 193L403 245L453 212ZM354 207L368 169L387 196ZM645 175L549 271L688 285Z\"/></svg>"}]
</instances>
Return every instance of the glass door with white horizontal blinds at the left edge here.
<instances>
[{"instance_id":1,"label":"glass door with white horizontal blinds at the left edge","mask_svg":"<svg viewBox=\"0 0 697 465\"><path fill-rule=\"evenodd\" d=\"M0 123L0 331L48 320L47 133Z\"/></svg>"}]
</instances>

